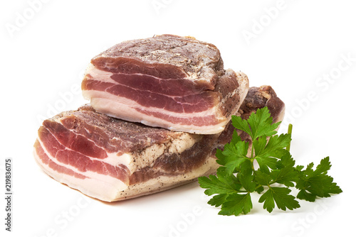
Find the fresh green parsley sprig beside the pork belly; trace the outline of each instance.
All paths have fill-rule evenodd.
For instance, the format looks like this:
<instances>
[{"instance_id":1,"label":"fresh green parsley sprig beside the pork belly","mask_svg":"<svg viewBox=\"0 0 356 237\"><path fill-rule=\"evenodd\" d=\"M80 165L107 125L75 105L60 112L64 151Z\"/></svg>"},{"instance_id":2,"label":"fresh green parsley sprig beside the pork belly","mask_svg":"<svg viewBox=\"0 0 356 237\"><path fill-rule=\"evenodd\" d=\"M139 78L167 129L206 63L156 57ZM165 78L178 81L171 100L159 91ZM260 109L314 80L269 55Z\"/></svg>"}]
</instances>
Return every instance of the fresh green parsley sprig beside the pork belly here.
<instances>
[{"instance_id":1,"label":"fresh green parsley sprig beside the pork belly","mask_svg":"<svg viewBox=\"0 0 356 237\"><path fill-rule=\"evenodd\" d=\"M258 202L268 212L276 205L283 211L296 209L300 207L296 198L314 202L316 197L342 192L328 175L329 157L321 160L315 170L313 162L305 168L295 166L289 153L291 125L287 134L276 135L281 122L273 123L267 107L258 109L247 120L238 116L231 120L236 129L248 133L251 146L234 131L224 150L216 150L216 162L221 165L216 175L199 177L204 193L214 195L208 204L221 206L219 214L248 214L253 207L252 192L261 194ZM299 190L297 197L290 194L291 187Z\"/></svg>"}]
</instances>

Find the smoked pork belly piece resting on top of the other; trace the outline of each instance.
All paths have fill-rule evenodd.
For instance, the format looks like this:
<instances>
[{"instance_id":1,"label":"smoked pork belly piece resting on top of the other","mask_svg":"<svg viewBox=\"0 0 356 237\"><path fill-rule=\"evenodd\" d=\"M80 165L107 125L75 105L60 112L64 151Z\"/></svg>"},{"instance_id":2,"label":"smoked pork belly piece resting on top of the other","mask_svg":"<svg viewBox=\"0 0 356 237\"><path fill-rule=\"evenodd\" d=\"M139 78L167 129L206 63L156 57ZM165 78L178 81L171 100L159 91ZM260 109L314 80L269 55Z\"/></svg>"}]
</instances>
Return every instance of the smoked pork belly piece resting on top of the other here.
<instances>
[{"instance_id":1,"label":"smoked pork belly piece resting on top of the other","mask_svg":"<svg viewBox=\"0 0 356 237\"><path fill-rule=\"evenodd\" d=\"M82 91L95 111L115 118L214 134L238 111L248 78L224 70L215 45L158 35L119 43L93 57Z\"/></svg>"}]
</instances>

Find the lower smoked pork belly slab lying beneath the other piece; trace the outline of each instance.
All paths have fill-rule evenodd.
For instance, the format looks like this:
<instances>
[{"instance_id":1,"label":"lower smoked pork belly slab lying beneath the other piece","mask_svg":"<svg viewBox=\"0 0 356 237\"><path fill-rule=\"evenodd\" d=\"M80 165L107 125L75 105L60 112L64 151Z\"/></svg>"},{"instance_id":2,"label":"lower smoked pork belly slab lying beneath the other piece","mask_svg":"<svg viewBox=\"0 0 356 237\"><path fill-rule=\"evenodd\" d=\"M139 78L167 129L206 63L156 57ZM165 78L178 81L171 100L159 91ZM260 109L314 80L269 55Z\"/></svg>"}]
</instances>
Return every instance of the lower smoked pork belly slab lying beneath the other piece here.
<instances>
[{"instance_id":1,"label":"lower smoked pork belly slab lying beneath the other piece","mask_svg":"<svg viewBox=\"0 0 356 237\"><path fill-rule=\"evenodd\" d=\"M273 121L281 121L284 104L271 87L252 87L236 113L244 116L263 106ZM217 134L169 131L112 118L86 105L43 121L34 157L54 180L113 202L214 174L216 148L223 149L233 131L231 121Z\"/></svg>"}]
</instances>

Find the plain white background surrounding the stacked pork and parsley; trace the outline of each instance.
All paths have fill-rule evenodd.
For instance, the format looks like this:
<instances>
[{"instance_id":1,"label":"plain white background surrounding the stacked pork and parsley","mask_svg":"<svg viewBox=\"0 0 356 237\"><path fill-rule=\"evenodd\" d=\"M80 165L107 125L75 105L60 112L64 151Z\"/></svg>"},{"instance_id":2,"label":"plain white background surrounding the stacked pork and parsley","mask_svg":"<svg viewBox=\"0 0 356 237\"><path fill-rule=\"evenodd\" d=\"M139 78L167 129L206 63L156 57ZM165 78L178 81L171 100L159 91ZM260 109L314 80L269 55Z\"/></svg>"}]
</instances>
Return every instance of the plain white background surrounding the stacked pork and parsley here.
<instances>
[{"instance_id":1,"label":"plain white background surrounding the stacked pork and parsley","mask_svg":"<svg viewBox=\"0 0 356 237\"><path fill-rule=\"evenodd\" d=\"M356 79L352 1L1 1L1 236L336 236L354 227ZM271 85L293 123L298 165L330 156L342 194L268 214L218 216L197 183L106 204L45 175L32 156L43 118L76 109L83 70L122 40L171 33L214 43L226 68ZM286 126L280 130L286 133ZM12 158L12 232L4 160ZM351 216L350 216L351 215ZM352 232L351 232L352 233Z\"/></svg>"}]
</instances>

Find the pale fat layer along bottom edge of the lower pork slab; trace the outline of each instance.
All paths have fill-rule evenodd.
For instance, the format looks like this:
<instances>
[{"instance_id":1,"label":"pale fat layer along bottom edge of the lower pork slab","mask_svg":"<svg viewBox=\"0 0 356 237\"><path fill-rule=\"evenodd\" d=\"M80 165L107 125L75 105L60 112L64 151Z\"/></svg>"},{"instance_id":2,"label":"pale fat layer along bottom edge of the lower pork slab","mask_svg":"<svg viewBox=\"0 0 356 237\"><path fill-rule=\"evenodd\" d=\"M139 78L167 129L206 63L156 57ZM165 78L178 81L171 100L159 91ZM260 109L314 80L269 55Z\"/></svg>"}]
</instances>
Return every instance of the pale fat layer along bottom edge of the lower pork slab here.
<instances>
[{"instance_id":1,"label":"pale fat layer along bottom edge of the lower pork slab","mask_svg":"<svg viewBox=\"0 0 356 237\"><path fill-rule=\"evenodd\" d=\"M114 202L122 199L130 199L133 197L139 197L146 194L152 194L160 192L165 189L171 189L187 182L192 182L197 177L202 175L211 175L216 172L216 168L219 166L215 162L213 156L206 160L201 167L187 172L182 175L176 176L159 176L148 180L147 182L141 182L127 186L125 183L117 180L108 175L99 175L96 173L87 173L87 178L80 179L71 175L66 175L61 172L53 170L48 165L44 164L38 157L36 150L34 151L34 158L38 165L54 180L67 184L73 189L78 189L83 194L90 197L103 200L105 202Z\"/></svg>"}]
</instances>

